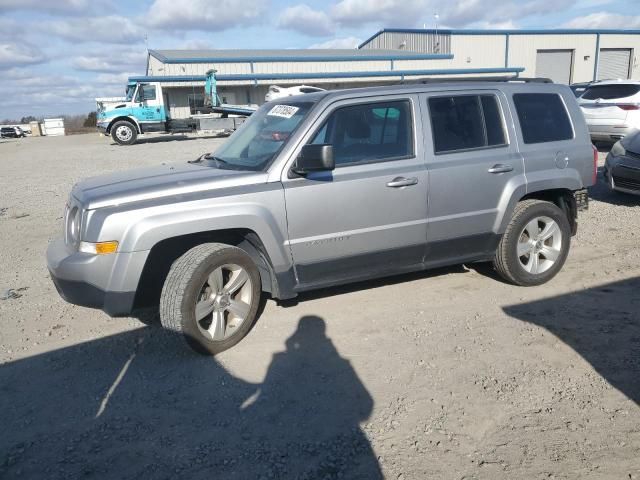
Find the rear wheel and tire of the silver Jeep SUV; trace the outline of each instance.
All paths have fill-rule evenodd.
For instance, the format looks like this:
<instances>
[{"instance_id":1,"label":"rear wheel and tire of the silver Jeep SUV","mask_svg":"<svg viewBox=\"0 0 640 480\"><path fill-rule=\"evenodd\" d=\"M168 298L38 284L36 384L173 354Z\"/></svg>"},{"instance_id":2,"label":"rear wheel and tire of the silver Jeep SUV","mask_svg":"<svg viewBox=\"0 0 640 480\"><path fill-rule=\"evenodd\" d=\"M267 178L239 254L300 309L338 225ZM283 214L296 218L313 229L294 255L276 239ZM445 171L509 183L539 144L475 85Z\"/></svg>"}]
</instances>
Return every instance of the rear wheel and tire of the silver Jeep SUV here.
<instances>
[{"instance_id":1,"label":"rear wheel and tire of the silver Jeep SUV","mask_svg":"<svg viewBox=\"0 0 640 480\"><path fill-rule=\"evenodd\" d=\"M570 244L571 227L560 208L542 200L524 200L500 239L493 266L507 282L541 285L560 271Z\"/></svg>"}]
</instances>

